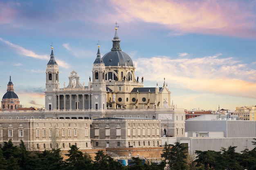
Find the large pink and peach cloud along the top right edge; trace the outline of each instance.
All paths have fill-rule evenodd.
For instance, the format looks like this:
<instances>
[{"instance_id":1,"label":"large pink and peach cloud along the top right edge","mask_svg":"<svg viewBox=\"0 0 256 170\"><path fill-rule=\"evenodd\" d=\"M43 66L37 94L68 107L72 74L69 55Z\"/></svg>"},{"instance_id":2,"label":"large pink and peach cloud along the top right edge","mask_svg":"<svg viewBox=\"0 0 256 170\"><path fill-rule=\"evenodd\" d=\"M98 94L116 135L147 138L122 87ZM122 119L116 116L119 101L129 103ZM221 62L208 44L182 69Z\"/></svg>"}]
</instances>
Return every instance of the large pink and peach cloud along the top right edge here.
<instances>
[{"instance_id":1,"label":"large pink and peach cloud along the top right edge","mask_svg":"<svg viewBox=\"0 0 256 170\"><path fill-rule=\"evenodd\" d=\"M256 38L256 1L112 0L126 22L164 25L170 35L205 33Z\"/></svg>"}]
</instances>

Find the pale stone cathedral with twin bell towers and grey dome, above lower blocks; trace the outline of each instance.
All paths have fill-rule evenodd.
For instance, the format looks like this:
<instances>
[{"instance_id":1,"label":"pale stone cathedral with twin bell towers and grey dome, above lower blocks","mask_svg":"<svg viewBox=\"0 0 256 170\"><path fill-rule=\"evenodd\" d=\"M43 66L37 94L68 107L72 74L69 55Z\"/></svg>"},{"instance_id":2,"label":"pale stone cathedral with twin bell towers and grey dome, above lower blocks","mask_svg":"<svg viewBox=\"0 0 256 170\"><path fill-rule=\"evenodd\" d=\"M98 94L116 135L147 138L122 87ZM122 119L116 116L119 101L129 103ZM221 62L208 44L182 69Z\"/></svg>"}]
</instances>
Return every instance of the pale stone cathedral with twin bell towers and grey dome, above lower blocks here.
<instances>
[{"instance_id":1,"label":"pale stone cathedral with twin bell towers and grey dome, above lower blocks","mask_svg":"<svg viewBox=\"0 0 256 170\"><path fill-rule=\"evenodd\" d=\"M47 110L157 109L172 108L171 92L163 87L144 87L144 78L135 77L135 66L122 51L115 28L113 46L101 57L98 49L88 86L79 82L76 71L70 73L69 83L61 88L59 68L52 50L46 68L45 108ZM99 46L98 46L99 47Z\"/></svg>"}]
</instances>

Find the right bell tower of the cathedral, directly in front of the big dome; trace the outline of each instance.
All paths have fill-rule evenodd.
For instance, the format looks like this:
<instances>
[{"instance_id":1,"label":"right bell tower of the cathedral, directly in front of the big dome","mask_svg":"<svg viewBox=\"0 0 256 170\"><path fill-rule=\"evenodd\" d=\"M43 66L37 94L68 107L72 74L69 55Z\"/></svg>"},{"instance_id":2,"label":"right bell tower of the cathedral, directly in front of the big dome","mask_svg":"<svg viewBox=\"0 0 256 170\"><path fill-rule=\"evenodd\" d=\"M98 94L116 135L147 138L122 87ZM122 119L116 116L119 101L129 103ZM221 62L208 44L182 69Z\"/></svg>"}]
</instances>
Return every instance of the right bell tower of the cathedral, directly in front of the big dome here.
<instances>
[{"instance_id":1,"label":"right bell tower of the cathedral, directly in front of the big dome","mask_svg":"<svg viewBox=\"0 0 256 170\"><path fill-rule=\"evenodd\" d=\"M99 51L92 67L92 109L106 109L105 64Z\"/></svg>"}]
</instances>

